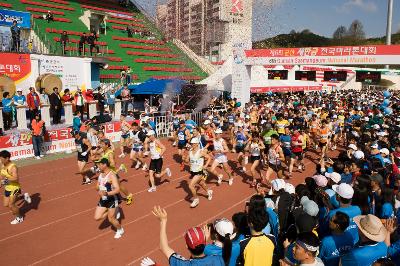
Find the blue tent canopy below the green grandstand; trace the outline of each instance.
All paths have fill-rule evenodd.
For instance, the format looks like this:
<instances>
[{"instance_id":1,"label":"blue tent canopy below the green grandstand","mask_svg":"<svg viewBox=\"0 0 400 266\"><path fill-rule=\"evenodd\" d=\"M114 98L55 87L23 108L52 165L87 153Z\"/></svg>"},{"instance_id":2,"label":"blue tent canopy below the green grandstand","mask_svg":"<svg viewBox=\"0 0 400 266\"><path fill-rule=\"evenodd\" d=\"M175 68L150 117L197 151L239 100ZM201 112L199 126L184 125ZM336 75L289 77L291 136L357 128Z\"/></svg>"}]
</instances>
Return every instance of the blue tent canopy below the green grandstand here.
<instances>
[{"instance_id":1,"label":"blue tent canopy below the green grandstand","mask_svg":"<svg viewBox=\"0 0 400 266\"><path fill-rule=\"evenodd\" d=\"M177 94L187 81L180 79L148 79L139 85L129 85L131 94Z\"/></svg>"}]
</instances>

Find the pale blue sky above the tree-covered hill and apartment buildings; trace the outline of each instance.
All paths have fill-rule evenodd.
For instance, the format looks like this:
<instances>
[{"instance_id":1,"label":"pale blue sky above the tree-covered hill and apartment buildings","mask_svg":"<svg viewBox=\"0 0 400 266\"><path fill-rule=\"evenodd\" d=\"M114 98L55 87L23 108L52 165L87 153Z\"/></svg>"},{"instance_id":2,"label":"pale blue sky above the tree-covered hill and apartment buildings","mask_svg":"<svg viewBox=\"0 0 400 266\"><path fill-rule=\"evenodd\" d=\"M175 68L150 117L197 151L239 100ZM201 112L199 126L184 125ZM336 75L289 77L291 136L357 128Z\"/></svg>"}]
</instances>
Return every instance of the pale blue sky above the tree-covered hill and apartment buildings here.
<instances>
[{"instance_id":1,"label":"pale blue sky above the tree-covered hill and apartment buildings","mask_svg":"<svg viewBox=\"0 0 400 266\"><path fill-rule=\"evenodd\" d=\"M159 0L160 3L166 0ZM155 14L157 0L136 0ZM348 27L355 19L364 25L367 37L386 34L388 0L253 0L253 40L309 29L332 37L335 29ZM392 31L400 30L400 0L394 0Z\"/></svg>"}]
</instances>

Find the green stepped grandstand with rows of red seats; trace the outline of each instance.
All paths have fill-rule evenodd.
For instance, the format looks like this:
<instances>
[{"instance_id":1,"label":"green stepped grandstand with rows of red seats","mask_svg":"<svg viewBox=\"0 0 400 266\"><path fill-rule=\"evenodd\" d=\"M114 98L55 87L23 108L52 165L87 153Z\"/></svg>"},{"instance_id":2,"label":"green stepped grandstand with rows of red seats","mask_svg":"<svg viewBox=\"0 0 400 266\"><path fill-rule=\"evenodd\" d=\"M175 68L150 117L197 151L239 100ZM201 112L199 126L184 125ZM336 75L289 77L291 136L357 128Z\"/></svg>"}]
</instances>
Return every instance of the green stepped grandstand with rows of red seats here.
<instances>
[{"instance_id":1,"label":"green stepped grandstand with rows of red seats","mask_svg":"<svg viewBox=\"0 0 400 266\"><path fill-rule=\"evenodd\" d=\"M67 31L70 40L67 56L77 55L81 34L89 32L90 22L85 23L88 16L106 16L106 33L99 34L96 42L109 60L108 69L100 72L103 83L118 81L120 71L128 66L133 82L149 78L201 80L207 76L177 46L165 41L160 30L133 4L125 8L117 0L0 0L0 6L30 12L35 34L51 54L62 54L59 38L62 31ZM53 13L54 21L43 19L48 10ZM126 32L128 24L133 27L132 37ZM88 55L89 47L85 51Z\"/></svg>"}]
</instances>

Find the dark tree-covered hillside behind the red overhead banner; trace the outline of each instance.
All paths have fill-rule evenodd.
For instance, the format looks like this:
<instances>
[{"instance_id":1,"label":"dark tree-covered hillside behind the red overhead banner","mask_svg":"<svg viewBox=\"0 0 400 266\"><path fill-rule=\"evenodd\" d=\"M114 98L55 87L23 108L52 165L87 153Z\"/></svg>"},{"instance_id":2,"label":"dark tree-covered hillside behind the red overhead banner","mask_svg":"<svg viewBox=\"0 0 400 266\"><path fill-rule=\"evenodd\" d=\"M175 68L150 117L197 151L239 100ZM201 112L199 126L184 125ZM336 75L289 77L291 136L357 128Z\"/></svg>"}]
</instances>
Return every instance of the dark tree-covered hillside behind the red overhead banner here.
<instances>
[{"instance_id":1,"label":"dark tree-covered hillside behind the red overhead banner","mask_svg":"<svg viewBox=\"0 0 400 266\"><path fill-rule=\"evenodd\" d=\"M292 30L289 34L280 34L256 41L253 43L253 48L385 44L385 36L379 38L366 38L365 36L363 24L359 20L354 20L349 27L339 26L333 32L332 38L317 35L308 29L301 32ZM392 34L392 44L400 44L400 31Z\"/></svg>"}]
</instances>

